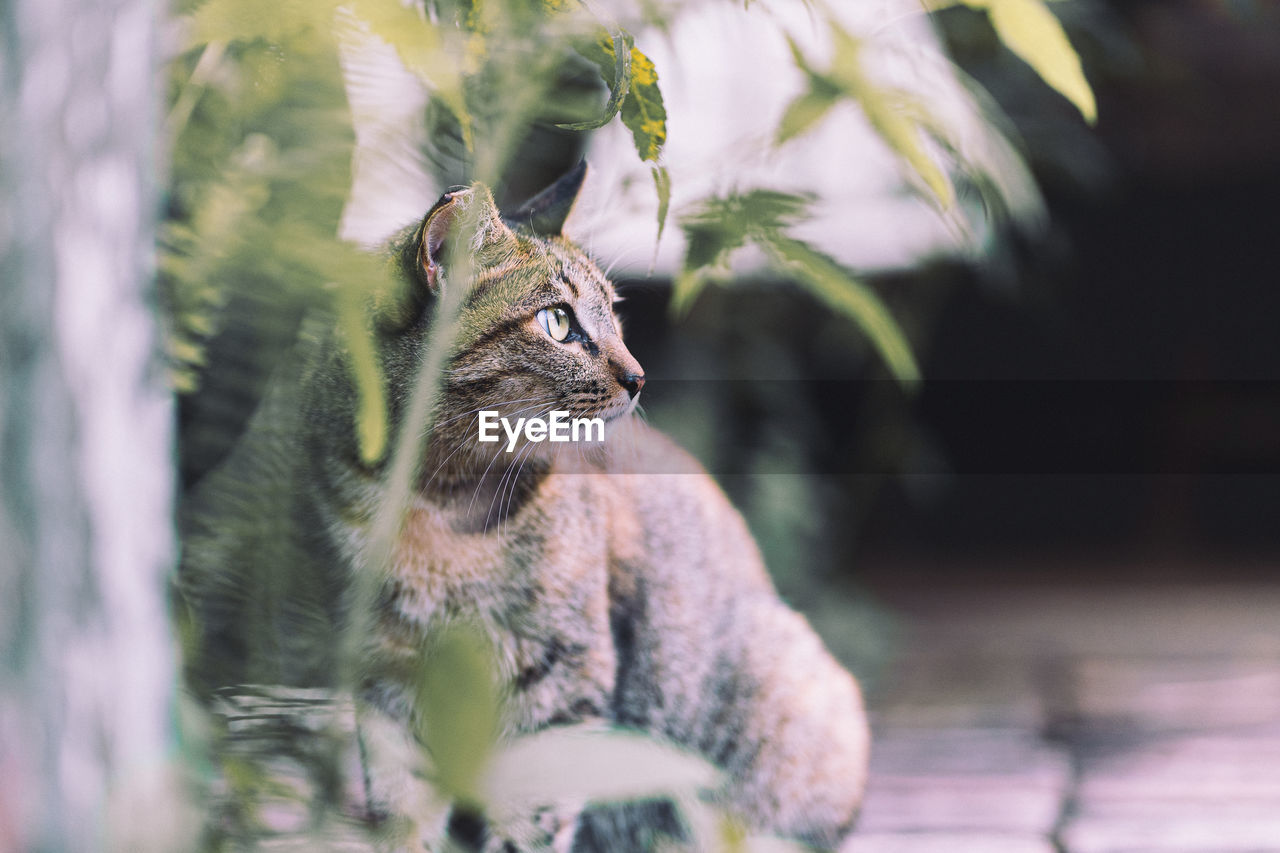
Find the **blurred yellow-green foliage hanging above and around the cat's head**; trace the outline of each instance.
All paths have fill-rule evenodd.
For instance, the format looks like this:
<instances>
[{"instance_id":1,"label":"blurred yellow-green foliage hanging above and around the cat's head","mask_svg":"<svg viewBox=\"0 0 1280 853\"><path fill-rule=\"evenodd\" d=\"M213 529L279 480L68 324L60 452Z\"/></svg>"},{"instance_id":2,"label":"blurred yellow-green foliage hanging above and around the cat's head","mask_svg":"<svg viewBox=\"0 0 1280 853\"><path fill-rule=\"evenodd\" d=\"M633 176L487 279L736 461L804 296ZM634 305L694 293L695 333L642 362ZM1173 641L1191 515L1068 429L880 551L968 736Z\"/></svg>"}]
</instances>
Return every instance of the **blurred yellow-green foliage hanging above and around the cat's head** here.
<instances>
[{"instance_id":1,"label":"blurred yellow-green foliage hanging above and around the cat's head","mask_svg":"<svg viewBox=\"0 0 1280 853\"><path fill-rule=\"evenodd\" d=\"M1039 0L961 0L987 9L997 33L1092 120L1092 92L1057 19ZM931 4L937 5L950 4ZM785 143L814 128L840 100L856 102L872 127L946 209L955 191L923 145L931 119L906 93L863 68L861 41L818 4L835 50L818 69L790 40L809 90L777 131ZM430 3L293 0L269 9L247 0L179 5L187 45L170 65L168 131L173 142L170 215L161 237L163 292L172 309L169 352L179 391L193 391L206 362L204 343L225 324L233 295L268 288L285 305L314 298L317 286L337 301L361 393L360 438L367 461L385 452L385 401L366 323L358 307L390 286L360 252L335 240L351 184L353 133L339 72L343 31L372 35L429 88L433 109L456 129L468 179L500 183L529 128L602 127L614 117L631 132L637 156L652 161L659 197L659 238L671 199L662 165L667 138L658 69L635 38L594 4L571 0ZM650 9L650 14L660 13ZM339 26L340 24L340 26ZM557 97L557 79L575 61L593 64L609 91L589 105ZM742 231L716 216L736 216L762 199L707 200L685 218L686 233ZM723 202L723 204L721 204ZM750 211L748 211L750 213ZM905 337L883 304L831 259L794 240L768 240L780 228L753 223L781 268L833 310L852 318L904 382L918 370ZM687 307L724 251L690 242L673 304ZM721 277L723 278L723 277Z\"/></svg>"}]
</instances>

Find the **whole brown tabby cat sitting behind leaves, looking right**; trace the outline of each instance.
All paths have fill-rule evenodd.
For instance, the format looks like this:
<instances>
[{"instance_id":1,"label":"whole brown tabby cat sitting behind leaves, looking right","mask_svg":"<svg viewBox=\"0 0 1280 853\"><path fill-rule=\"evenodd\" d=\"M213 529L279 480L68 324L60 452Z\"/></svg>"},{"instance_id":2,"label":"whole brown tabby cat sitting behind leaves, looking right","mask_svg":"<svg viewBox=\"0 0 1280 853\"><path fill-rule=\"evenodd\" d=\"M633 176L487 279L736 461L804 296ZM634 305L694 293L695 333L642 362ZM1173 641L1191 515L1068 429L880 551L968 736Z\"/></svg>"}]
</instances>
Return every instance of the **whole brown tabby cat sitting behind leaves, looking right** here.
<instances>
[{"instance_id":1,"label":"whole brown tabby cat sitting behind leaves, looking right","mask_svg":"<svg viewBox=\"0 0 1280 853\"><path fill-rule=\"evenodd\" d=\"M424 304L442 283L458 286L444 260L454 232L467 237L475 277L375 647L412 660L440 625L480 625L515 733L594 720L652 733L721 767L723 799L748 825L837 844L865 776L858 686L778 599L714 482L630 416L644 378L622 345L612 287L571 243L507 229L475 187L406 233ZM393 424L430 311L408 314L381 334ZM244 643L239 663L196 672L209 686L325 683L333 648L314 640L334 635L349 573L370 558L384 471L360 461L344 351L316 328L303 378L273 391L188 512L183 584L201 646ZM506 453L476 442L483 407L602 416L611 437L604 450L526 443ZM246 643L237 631L255 613L269 628ZM543 841L568 849L576 835L576 849L622 852L645 836L627 821L657 813L570 815Z\"/></svg>"}]
</instances>

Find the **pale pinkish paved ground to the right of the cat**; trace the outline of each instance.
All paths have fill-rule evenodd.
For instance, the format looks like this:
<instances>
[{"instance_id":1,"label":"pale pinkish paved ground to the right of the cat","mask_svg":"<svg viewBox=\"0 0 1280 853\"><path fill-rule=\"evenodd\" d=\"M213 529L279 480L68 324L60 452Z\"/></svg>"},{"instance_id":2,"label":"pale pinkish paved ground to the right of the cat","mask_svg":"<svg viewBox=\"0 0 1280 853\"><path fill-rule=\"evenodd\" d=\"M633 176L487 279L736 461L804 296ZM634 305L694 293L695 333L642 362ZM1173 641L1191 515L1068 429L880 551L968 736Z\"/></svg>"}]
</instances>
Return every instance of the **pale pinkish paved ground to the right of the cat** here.
<instances>
[{"instance_id":1,"label":"pale pinkish paved ground to the right of the cat","mask_svg":"<svg viewBox=\"0 0 1280 853\"><path fill-rule=\"evenodd\" d=\"M1280 583L883 594L852 853L1280 852Z\"/></svg>"}]
</instances>

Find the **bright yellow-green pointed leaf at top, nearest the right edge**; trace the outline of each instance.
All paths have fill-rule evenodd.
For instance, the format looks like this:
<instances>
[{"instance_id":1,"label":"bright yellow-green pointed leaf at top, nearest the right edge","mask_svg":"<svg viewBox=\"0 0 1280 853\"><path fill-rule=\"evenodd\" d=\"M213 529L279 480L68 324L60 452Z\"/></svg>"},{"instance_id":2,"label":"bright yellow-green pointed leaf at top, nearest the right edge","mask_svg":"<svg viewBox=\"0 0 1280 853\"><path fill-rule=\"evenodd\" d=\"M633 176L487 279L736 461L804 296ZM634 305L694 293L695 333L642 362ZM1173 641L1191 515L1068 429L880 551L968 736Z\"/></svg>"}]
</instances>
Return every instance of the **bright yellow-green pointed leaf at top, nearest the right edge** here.
<instances>
[{"instance_id":1,"label":"bright yellow-green pointed leaf at top, nearest the right edge","mask_svg":"<svg viewBox=\"0 0 1280 853\"><path fill-rule=\"evenodd\" d=\"M991 26L1005 46L1030 65L1041 78L1071 101L1084 120L1098 119L1093 88L1084 77L1080 55L1071 47L1062 24L1043 0L964 0L987 9Z\"/></svg>"}]
</instances>

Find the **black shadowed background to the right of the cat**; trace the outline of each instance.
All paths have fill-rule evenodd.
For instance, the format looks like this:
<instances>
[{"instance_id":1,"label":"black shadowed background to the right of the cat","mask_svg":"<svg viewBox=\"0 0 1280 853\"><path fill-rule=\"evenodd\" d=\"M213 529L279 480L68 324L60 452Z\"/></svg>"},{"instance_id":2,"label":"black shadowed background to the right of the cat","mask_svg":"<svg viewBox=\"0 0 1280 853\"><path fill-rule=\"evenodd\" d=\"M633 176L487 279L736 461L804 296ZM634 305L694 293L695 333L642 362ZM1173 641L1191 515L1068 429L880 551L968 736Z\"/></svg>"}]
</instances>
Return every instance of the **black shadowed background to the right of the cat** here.
<instances>
[{"instance_id":1,"label":"black shadowed background to the right of the cat","mask_svg":"<svg viewBox=\"0 0 1280 853\"><path fill-rule=\"evenodd\" d=\"M1055 10L1094 128L982 15L940 17L1023 140L1051 224L980 266L876 279L922 359L914 397L785 283L709 291L677 323L663 287L623 284L652 419L695 446L773 565L803 551L790 537L817 547L818 575L859 579L957 561L1048 578L1064 557L1135 579L1274 571L1280 10ZM803 475L813 516L777 540L759 530L778 526L768 474Z\"/></svg>"}]
</instances>

